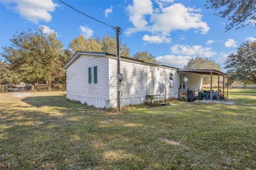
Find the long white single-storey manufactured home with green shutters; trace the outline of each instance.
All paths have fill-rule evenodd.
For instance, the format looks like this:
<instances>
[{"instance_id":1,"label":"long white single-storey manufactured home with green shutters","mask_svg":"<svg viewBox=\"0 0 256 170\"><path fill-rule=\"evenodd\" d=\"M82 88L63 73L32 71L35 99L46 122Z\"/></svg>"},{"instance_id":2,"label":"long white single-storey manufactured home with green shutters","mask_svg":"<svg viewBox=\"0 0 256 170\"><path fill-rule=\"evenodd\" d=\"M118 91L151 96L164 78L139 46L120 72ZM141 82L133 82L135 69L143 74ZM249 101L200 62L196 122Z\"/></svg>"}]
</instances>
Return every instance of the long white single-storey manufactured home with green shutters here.
<instances>
[{"instance_id":1,"label":"long white single-storey manufactured home with green shutters","mask_svg":"<svg viewBox=\"0 0 256 170\"><path fill-rule=\"evenodd\" d=\"M76 52L67 70L67 98L95 107L117 106L117 58L96 52ZM203 74L193 70L121 57L121 106L143 104L147 95L178 98L179 91L201 90ZM183 78L187 77L185 83Z\"/></svg>"}]
</instances>

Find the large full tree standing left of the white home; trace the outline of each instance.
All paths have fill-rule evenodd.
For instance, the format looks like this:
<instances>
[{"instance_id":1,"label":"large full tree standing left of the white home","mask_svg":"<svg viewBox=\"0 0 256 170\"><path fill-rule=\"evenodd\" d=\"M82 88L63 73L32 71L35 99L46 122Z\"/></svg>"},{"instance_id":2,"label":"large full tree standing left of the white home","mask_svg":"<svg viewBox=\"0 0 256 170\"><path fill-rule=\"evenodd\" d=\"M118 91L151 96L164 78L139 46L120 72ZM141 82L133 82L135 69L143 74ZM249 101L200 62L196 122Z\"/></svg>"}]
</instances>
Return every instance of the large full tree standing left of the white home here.
<instances>
[{"instance_id":1,"label":"large full tree standing left of the white home","mask_svg":"<svg viewBox=\"0 0 256 170\"><path fill-rule=\"evenodd\" d=\"M14 35L10 47L4 47L2 56L20 80L27 83L45 82L48 90L58 83L65 72L61 67L69 59L68 53L57 40L55 32L43 33L43 29Z\"/></svg>"}]
</instances>

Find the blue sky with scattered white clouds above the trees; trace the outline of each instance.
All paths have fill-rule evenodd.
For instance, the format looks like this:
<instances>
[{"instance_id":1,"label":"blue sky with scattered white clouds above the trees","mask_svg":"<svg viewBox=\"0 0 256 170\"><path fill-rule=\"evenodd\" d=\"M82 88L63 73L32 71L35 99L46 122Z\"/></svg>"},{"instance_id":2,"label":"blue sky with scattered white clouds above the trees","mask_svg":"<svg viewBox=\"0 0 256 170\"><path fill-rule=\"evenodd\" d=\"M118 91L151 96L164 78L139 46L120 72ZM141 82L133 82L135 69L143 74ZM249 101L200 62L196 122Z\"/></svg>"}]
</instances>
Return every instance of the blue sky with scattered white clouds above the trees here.
<instances>
[{"instance_id":1,"label":"blue sky with scattered white clouds above the trees","mask_svg":"<svg viewBox=\"0 0 256 170\"><path fill-rule=\"evenodd\" d=\"M246 40L255 40L251 26L225 31L225 20L206 10L205 1L66 1L78 10L111 25L120 26L122 43L131 54L147 50L165 65L182 67L196 55L223 65L229 53ZM15 32L44 27L54 30L65 46L81 33L86 37L115 36L106 25L95 22L59 1L1 1L1 52Z\"/></svg>"}]
</instances>

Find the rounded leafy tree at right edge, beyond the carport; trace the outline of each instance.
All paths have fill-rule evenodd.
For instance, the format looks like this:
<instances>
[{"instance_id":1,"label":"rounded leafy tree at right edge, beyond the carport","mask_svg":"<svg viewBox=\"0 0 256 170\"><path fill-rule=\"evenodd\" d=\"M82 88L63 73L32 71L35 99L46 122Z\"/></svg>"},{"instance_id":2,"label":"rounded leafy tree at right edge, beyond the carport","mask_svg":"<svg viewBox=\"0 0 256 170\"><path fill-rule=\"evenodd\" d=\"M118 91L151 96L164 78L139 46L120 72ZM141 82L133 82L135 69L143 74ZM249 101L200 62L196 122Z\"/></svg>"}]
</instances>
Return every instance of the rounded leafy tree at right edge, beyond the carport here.
<instances>
[{"instance_id":1,"label":"rounded leafy tree at right edge, beyond the carport","mask_svg":"<svg viewBox=\"0 0 256 170\"><path fill-rule=\"evenodd\" d=\"M256 84L256 41L243 43L228 56L225 69L231 81L251 81Z\"/></svg>"}]
</instances>

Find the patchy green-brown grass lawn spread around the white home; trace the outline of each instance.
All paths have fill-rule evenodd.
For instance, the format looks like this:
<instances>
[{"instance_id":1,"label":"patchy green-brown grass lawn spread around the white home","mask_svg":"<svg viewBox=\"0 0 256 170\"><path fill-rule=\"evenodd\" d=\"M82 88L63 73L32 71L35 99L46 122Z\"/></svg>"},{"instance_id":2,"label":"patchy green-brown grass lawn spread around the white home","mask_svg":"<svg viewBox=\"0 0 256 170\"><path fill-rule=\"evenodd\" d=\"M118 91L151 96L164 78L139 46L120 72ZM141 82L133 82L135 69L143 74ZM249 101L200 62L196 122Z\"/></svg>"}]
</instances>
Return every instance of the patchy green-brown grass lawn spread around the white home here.
<instances>
[{"instance_id":1,"label":"patchy green-brown grass lawn spread around the white home","mask_svg":"<svg viewBox=\"0 0 256 170\"><path fill-rule=\"evenodd\" d=\"M121 114L63 92L0 95L8 169L256 169L256 89L230 91L234 105L172 101Z\"/></svg>"}]
</instances>

